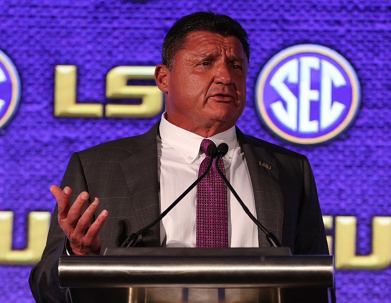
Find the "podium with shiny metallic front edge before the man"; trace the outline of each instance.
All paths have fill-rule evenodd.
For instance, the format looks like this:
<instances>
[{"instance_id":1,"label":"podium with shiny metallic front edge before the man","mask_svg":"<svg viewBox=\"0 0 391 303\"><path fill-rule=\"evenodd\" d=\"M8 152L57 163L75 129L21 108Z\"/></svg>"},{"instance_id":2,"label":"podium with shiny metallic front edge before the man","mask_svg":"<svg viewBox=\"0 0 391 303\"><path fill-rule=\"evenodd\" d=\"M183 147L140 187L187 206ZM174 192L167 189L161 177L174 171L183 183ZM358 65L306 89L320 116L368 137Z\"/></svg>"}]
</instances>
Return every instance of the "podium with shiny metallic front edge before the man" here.
<instances>
[{"instance_id":1,"label":"podium with shiny metallic front edge before the man","mask_svg":"<svg viewBox=\"0 0 391 303\"><path fill-rule=\"evenodd\" d=\"M133 247L62 256L59 278L72 303L322 303L334 267L289 248Z\"/></svg>"}]
</instances>

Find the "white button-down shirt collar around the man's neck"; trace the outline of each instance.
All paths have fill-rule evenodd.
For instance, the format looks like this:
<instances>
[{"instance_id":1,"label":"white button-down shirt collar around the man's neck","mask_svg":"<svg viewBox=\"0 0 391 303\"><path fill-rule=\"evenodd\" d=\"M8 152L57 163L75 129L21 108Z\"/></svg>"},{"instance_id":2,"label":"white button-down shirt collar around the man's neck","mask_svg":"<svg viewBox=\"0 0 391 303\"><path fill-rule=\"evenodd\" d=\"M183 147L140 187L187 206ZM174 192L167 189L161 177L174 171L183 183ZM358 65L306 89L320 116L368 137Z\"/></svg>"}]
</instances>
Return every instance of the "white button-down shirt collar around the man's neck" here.
<instances>
[{"instance_id":1,"label":"white button-down shirt collar around the man's neck","mask_svg":"<svg viewBox=\"0 0 391 303\"><path fill-rule=\"evenodd\" d=\"M170 123L166 117L165 112L162 114L159 131L162 139L162 144L168 144L176 150L188 163L193 163L200 156L199 147L204 137L197 135L188 130ZM234 153L234 149L238 146L238 139L236 136L235 126L229 130L217 133L210 138L218 146L225 142L228 144L228 152L223 157L223 160L230 163Z\"/></svg>"}]
</instances>

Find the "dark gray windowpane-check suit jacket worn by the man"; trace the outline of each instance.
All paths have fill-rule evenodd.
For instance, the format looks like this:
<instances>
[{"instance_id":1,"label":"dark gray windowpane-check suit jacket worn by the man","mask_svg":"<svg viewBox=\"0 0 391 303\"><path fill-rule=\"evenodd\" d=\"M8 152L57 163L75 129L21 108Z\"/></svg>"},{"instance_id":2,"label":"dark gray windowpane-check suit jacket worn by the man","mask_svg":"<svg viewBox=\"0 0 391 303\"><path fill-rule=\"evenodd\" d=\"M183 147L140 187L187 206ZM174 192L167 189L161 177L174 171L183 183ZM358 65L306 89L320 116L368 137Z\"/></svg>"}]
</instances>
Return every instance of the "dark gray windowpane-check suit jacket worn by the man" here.
<instances>
[{"instance_id":1,"label":"dark gray windowpane-check suit jacket worn by the man","mask_svg":"<svg viewBox=\"0 0 391 303\"><path fill-rule=\"evenodd\" d=\"M99 214L109 216L100 232L103 252L159 215L157 132L110 141L72 155L61 187L72 189L71 201L82 191L100 198ZM237 129L254 189L257 218L293 254L328 254L314 177L304 155L243 134ZM231 174L235 178L235 174ZM42 260L32 269L30 287L38 302L64 302L59 287L58 258L65 235L54 210ZM259 232L260 247L269 247ZM140 246L160 246L159 224L142 235Z\"/></svg>"}]
</instances>

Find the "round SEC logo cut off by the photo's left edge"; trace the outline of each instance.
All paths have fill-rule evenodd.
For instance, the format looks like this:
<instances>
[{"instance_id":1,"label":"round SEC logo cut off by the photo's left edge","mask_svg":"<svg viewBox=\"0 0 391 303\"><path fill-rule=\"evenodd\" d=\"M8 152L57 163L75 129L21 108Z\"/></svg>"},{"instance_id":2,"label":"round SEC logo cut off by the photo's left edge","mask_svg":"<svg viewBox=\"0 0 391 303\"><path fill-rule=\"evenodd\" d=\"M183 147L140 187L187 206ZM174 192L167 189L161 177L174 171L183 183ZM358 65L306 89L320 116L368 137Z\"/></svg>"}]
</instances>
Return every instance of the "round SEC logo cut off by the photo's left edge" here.
<instances>
[{"instance_id":1,"label":"round SEC logo cut off by the photo's left edge","mask_svg":"<svg viewBox=\"0 0 391 303\"><path fill-rule=\"evenodd\" d=\"M21 82L11 59L0 50L0 130L18 109Z\"/></svg>"}]
</instances>

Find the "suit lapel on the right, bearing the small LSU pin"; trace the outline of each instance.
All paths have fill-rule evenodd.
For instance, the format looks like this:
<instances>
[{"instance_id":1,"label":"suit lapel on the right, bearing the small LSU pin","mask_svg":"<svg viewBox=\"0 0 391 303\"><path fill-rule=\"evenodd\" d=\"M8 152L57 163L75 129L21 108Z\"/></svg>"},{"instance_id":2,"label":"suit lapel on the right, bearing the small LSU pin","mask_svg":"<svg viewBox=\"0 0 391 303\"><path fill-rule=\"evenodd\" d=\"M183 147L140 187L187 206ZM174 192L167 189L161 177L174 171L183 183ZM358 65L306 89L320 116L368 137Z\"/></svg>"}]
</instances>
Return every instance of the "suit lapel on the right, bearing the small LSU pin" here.
<instances>
[{"instance_id":1,"label":"suit lapel on the right, bearing the small LSU pin","mask_svg":"<svg viewBox=\"0 0 391 303\"><path fill-rule=\"evenodd\" d=\"M281 241L283 196L278 163L259 139L244 135L239 129L237 135L251 177L257 219ZM263 232L258 231L258 238L260 247L270 247Z\"/></svg>"}]
</instances>

